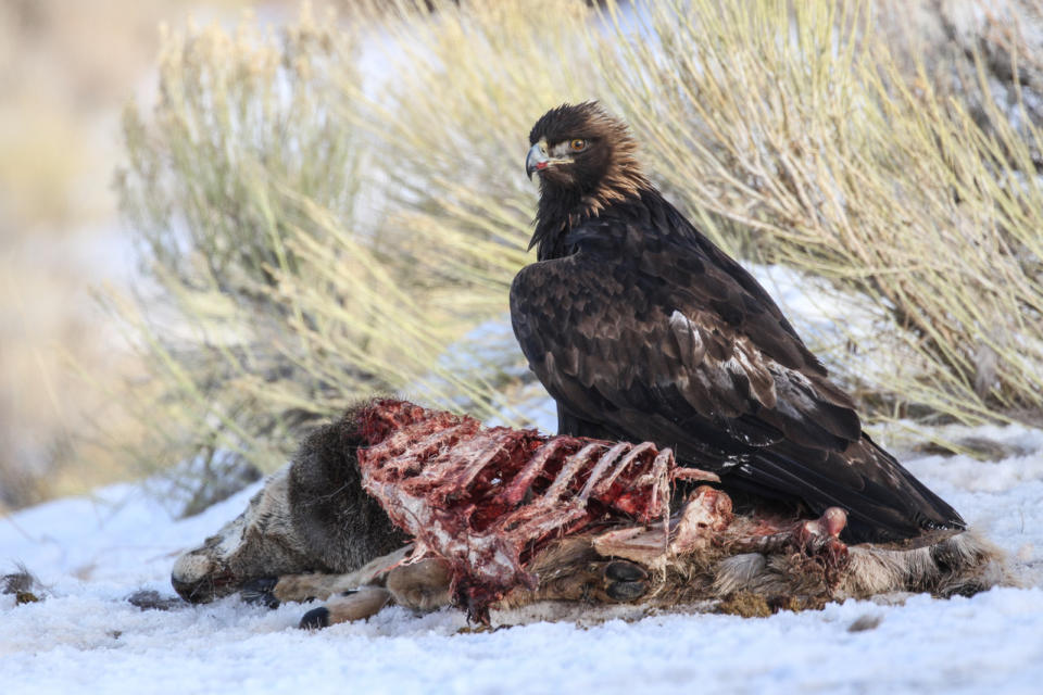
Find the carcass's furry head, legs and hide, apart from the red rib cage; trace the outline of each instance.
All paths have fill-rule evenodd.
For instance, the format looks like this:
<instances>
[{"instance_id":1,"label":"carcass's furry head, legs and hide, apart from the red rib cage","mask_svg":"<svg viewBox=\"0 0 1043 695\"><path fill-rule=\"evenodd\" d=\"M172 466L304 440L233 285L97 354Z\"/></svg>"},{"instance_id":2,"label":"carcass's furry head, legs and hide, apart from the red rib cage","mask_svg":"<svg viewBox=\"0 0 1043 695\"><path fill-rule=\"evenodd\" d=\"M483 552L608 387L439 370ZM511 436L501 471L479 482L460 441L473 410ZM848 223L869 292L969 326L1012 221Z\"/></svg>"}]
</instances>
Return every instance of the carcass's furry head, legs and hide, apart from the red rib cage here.
<instances>
[{"instance_id":1,"label":"carcass's furry head, legs and hide, apart from the red rib cage","mask_svg":"<svg viewBox=\"0 0 1043 695\"><path fill-rule=\"evenodd\" d=\"M407 539L362 490L361 409L307 438L242 515L178 558L172 582L183 597L202 603L261 581L269 604L326 602L303 627L366 618L391 603L416 610L452 603L449 564L411 557ZM554 603L538 617L553 619L576 615L577 605L588 614L712 607L743 592L814 606L892 592L969 595L1013 583L1002 552L973 531L916 549L846 547L839 523L832 510L804 520L736 515L727 495L702 486L669 518L667 535L654 522L550 542L525 567L537 583L495 601L491 620L524 620L543 602Z\"/></svg>"}]
</instances>

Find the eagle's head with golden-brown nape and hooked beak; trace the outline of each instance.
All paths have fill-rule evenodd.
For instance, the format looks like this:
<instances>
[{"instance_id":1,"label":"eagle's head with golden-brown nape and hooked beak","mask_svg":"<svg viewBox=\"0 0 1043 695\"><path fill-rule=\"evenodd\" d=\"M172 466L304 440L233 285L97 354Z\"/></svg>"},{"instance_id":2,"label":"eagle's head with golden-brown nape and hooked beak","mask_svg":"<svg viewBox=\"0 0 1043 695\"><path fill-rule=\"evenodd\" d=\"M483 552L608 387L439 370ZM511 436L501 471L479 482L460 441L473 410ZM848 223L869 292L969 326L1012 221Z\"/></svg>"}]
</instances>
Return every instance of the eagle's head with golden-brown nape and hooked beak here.
<instances>
[{"instance_id":1,"label":"eagle's head with golden-brown nape and hooked beak","mask_svg":"<svg viewBox=\"0 0 1043 695\"><path fill-rule=\"evenodd\" d=\"M566 214L596 214L649 186L629 128L596 101L551 109L529 144L526 174L539 174L541 199L556 199Z\"/></svg>"}]
</instances>

